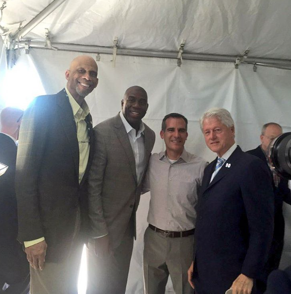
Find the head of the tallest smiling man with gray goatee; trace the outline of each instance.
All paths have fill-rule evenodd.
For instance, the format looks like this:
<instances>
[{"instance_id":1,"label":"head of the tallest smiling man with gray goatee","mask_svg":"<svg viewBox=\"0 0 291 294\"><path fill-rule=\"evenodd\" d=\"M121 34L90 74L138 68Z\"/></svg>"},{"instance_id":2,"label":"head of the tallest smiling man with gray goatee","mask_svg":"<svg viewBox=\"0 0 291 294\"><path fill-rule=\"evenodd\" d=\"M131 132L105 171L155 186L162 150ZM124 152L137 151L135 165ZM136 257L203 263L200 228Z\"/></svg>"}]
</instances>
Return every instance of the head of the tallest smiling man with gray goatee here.
<instances>
[{"instance_id":1,"label":"head of the tallest smiling man with gray goatee","mask_svg":"<svg viewBox=\"0 0 291 294\"><path fill-rule=\"evenodd\" d=\"M96 61L87 55L74 58L66 70L67 89L79 105L97 87L97 74Z\"/></svg>"}]
</instances>

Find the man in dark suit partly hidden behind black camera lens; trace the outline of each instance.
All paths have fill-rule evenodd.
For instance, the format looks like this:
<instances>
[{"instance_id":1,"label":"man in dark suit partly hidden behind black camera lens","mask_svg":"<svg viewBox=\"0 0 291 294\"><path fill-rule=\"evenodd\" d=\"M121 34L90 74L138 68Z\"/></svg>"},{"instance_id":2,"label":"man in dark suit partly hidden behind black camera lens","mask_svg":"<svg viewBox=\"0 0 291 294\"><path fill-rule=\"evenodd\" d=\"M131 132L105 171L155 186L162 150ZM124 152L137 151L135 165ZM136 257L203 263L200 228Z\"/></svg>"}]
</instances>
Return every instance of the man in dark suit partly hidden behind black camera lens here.
<instances>
[{"instance_id":1,"label":"man in dark suit partly hidden behind black camera lens","mask_svg":"<svg viewBox=\"0 0 291 294\"><path fill-rule=\"evenodd\" d=\"M274 215L274 236L269 253L267 264L264 268L263 276L259 280L258 286L262 292L266 291L267 279L270 273L279 268L281 255L284 246L285 221L283 216L283 201L291 204L291 191L288 187L288 179L281 178L268 165L267 151L273 139L282 134L282 127L277 123L268 123L262 127L260 136L261 145L247 153L261 158L271 173L271 181L275 194L275 215Z\"/></svg>"}]
</instances>

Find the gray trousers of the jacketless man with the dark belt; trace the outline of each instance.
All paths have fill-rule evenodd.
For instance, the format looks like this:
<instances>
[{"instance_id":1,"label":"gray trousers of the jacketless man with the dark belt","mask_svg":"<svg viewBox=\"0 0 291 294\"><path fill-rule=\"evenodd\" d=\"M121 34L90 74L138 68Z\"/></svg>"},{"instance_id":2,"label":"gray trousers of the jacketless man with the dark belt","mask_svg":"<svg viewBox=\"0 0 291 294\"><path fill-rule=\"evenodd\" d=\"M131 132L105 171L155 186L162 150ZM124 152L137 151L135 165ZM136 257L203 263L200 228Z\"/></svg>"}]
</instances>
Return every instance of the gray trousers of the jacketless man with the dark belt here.
<instances>
[{"instance_id":1,"label":"gray trousers of the jacketless man with the dark belt","mask_svg":"<svg viewBox=\"0 0 291 294\"><path fill-rule=\"evenodd\" d=\"M193 294L187 271L193 260L194 235L169 238L149 227L144 234L145 294L164 294L171 277L175 294Z\"/></svg>"}]
</instances>

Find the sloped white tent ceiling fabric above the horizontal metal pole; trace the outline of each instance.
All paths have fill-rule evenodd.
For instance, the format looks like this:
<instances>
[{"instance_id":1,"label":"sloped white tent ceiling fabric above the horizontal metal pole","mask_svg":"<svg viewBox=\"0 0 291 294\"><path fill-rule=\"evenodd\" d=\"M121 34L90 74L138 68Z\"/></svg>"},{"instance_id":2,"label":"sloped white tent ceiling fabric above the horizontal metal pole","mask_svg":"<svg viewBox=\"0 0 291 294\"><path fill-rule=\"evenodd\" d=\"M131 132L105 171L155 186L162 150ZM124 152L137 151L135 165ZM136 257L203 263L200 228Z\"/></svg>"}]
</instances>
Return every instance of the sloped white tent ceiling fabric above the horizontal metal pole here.
<instances>
[{"instance_id":1,"label":"sloped white tent ceiling fabric above the horizontal metal pole","mask_svg":"<svg viewBox=\"0 0 291 294\"><path fill-rule=\"evenodd\" d=\"M15 34L51 2L6 0L0 25ZM291 59L290 15L290 0L65 0L24 39Z\"/></svg>"}]
</instances>

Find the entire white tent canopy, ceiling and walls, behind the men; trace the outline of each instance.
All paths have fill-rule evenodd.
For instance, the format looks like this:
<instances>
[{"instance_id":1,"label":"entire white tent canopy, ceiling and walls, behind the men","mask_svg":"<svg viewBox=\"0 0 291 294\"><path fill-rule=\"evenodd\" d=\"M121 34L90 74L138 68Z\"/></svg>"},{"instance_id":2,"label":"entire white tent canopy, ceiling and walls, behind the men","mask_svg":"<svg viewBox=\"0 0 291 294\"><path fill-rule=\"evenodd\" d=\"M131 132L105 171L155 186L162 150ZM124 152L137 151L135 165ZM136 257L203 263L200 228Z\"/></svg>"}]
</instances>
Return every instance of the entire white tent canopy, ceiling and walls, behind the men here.
<instances>
[{"instance_id":1,"label":"entire white tent canopy, ceiling and walls, behind the men","mask_svg":"<svg viewBox=\"0 0 291 294\"><path fill-rule=\"evenodd\" d=\"M149 97L144 121L157 135L154 152L163 148L158 134L170 112L188 118L186 148L207 160L215 154L205 146L198 121L211 107L232 113L236 141L244 150L260 144L267 122L291 131L291 71L284 69L291 69L290 0L6 0L4 6L0 110L16 104L25 108L36 95L56 93L65 85L70 61L89 52L99 67L99 84L86 98L93 124L116 115L124 91L140 85ZM127 294L143 293L148 200L149 195L142 196L138 209ZM282 260L291 264L290 240Z\"/></svg>"}]
</instances>

